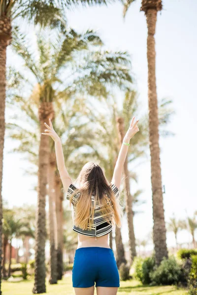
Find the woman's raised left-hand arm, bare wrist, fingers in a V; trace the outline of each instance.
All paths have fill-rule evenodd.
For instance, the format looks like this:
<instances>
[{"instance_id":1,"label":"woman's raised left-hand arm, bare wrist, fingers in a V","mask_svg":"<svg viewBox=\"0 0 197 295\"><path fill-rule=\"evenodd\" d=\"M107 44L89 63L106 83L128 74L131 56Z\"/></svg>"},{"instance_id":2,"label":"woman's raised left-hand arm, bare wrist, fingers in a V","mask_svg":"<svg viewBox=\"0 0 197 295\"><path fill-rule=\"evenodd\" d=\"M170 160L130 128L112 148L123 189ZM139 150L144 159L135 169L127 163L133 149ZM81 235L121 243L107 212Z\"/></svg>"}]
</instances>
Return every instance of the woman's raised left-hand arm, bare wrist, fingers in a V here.
<instances>
[{"instance_id":1,"label":"woman's raised left-hand arm, bare wrist, fingers in a V","mask_svg":"<svg viewBox=\"0 0 197 295\"><path fill-rule=\"evenodd\" d=\"M51 138L54 140L55 142L55 152L56 152L56 160L57 160L57 166L58 166L58 171L60 173L60 177L64 186L65 191L67 192L67 189L69 187L69 185L72 183L72 180L66 170L66 166L65 166L65 159L64 159L64 153L63 153L63 149L62 149L62 143L61 143L61 139L60 137L57 135L57 133L55 132L55 130L53 129L53 125L51 122L51 119L49 119L49 125L47 125L47 123L44 123L45 126L48 129L45 129L45 133L43 132L43 135L50 135Z\"/></svg>"}]
</instances>

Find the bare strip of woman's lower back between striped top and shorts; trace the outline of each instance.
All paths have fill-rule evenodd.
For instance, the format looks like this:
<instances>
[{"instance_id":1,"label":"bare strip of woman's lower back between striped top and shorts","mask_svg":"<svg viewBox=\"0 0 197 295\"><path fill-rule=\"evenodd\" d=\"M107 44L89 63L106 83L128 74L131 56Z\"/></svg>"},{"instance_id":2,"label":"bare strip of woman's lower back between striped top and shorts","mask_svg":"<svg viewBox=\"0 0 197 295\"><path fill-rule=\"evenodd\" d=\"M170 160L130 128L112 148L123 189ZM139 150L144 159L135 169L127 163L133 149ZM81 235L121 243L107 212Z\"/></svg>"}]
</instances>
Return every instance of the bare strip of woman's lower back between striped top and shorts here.
<instances>
[{"instance_id":1,"label":"bare strip of woman's lower back between striped top and shorts","mask_svg":"<svg viewBox=\"0 0 197 295\"><path fill-rule=\"evenodd\" d=\"M104 248L110 248L108 244L109 234L104 236L97 236L97 239L95 240L95 237L93 236L85 236L78 234L78 248L82 247L104 247Z\"/></svg>"}]
</instances>

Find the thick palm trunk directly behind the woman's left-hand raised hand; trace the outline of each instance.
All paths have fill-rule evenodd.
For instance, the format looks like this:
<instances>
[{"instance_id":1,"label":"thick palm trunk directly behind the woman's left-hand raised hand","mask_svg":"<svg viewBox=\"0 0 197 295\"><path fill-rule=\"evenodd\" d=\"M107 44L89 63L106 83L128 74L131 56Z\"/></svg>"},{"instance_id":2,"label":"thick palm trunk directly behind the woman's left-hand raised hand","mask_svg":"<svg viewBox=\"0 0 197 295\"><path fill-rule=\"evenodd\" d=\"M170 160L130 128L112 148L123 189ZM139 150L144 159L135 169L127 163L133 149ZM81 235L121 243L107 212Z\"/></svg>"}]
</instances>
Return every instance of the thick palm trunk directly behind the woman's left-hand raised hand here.
<instances>
[{"instance_id":1,"label":"thick palm trunk directly behind the woman's left-hand raised hand","mask_svg":"<svg viewBox=\"0 0 197 295\"><path fill-rule=\"evenodd\" d=\"M41 102L38 109L40 121L40 146L38 162L38 196L35 230L35 276L33 294L46 292L45 285L45 240L46 240L46 184L49 158L49 137L42 135L46 129L44 122L53 116L53 107L50 102Z\"/></svg>"}]
</instances>

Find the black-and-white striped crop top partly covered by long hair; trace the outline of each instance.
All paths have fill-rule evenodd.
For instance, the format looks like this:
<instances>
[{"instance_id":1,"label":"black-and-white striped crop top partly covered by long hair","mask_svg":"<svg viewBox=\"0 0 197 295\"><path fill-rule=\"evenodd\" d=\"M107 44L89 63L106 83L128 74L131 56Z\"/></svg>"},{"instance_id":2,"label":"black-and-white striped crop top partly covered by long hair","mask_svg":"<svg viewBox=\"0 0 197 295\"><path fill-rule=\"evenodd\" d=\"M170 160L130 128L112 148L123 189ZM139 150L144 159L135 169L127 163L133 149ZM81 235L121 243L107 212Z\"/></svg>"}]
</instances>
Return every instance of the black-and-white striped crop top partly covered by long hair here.
<instances>
[{"instance_id":1,"label":"black-and-white striped crop top partly covered by long hair","mask_svg":"<svg viewBox=\"0 0 197 295\"><path fill-rule=\"evenodd\" d=\"M115 195L116 198L119 197L119 190L115 184L111 184L112 191ZM67 194L66 194L66 199L70 200L71 194L74 192L74 190L77 189L77 187L71 183L70 186L68 187ZM72 205L73 205L73 219L75 216L75 206L77 204L77 199L80 195L80 192L78 194L75 194L72 197ZM91 196L92 202L94 202L94 196ZM99 203L99 201L97 202ZM99 204L95 204L95 212L94 212L94 218L93 218L93 229L91 230L82 230L79 227L76 227L73 225L73 231L82 234L84 236L94 236L95 239L97 239L97 236L104 236L109 234L112 231L112 222L108 223L106 220L103 218L101 209L99 207Z\"/></svg>"}]
</instances>

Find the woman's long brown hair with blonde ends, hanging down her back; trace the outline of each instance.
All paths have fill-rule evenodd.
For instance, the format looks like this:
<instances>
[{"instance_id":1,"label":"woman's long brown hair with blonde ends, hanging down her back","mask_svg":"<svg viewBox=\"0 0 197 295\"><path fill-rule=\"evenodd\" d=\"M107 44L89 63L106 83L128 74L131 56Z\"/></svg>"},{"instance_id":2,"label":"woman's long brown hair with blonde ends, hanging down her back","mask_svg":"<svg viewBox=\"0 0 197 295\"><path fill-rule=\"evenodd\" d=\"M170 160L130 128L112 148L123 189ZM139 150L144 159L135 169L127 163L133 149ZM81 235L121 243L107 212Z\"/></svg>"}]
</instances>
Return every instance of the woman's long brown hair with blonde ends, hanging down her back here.
<instances>
[{"instance_id":1,"label":"woman's long brown hair with blonde ends, hanging down her back","mask_svg":"<svg viewBox=\"0 0 197 295\"><path fill-rule=\"evenodd\" d=\"M76 182L80 182L81 187L70 196L70 206L72 197L78 194L78 201L75 207L74 225L83 230L91 230L95 205L99 202L102 215L106 222L111 221L113 225L121 227L121 217L123 214L119 199L116 199L110 184L100 166L93 162L86 163ZM91 196L95 197L94 205Z\"/></svg>"}]
</instances>

